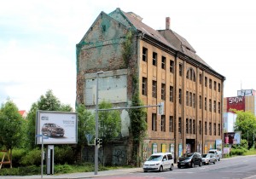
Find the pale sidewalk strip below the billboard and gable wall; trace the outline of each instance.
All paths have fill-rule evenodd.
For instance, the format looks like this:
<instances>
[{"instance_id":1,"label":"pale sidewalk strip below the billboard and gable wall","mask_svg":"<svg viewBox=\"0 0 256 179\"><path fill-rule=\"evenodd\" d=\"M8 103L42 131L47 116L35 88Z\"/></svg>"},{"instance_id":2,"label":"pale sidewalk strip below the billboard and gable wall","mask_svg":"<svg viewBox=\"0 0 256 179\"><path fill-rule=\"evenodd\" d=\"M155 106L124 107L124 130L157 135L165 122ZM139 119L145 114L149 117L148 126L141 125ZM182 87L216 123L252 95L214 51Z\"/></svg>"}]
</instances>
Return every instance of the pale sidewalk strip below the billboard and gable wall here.
<instances>
[{"instance_id":1,"label":"pale sidewalk strip below the billboard and gable wall","mask_svg":"<svg viewBox=\"0 0 256 179\"><path fill-rule=\"evenodd\" d=\"M119 170L104 170L98 171L97 175L94 172L82 172L82 173L69 173L60 175L43 175L43 178L47 179L73 179L73 178L92 178L98 176L115 176L125 173L143 172L143 168L130 168L130 169L119 169ZM0 179L38 179L41 175L37 176L0 176Z\"/></svg>"}]
</instances>

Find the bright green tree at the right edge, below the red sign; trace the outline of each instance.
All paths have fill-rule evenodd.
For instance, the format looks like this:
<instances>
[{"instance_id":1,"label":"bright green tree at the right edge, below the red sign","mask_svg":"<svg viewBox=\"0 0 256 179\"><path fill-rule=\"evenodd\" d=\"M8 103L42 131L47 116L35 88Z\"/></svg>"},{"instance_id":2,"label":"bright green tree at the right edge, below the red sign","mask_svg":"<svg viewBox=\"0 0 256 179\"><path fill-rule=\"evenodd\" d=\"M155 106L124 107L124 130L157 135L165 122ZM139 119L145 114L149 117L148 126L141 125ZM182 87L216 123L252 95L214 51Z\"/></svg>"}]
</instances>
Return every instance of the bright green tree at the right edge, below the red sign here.
<instances>
[{"instance_id":1,"label":"bright green tree at the right edge, below the red sign","mask_svg":"<svg viewBox=\"0 0 256 179\"><path fill-rule=\"evenodd\" d=\"M253 147L253 131L256 130L256 118L253 113L236 111L235 131L241 131L241 139L248 139L248 147Z\"/></svg>"}]
</instances>

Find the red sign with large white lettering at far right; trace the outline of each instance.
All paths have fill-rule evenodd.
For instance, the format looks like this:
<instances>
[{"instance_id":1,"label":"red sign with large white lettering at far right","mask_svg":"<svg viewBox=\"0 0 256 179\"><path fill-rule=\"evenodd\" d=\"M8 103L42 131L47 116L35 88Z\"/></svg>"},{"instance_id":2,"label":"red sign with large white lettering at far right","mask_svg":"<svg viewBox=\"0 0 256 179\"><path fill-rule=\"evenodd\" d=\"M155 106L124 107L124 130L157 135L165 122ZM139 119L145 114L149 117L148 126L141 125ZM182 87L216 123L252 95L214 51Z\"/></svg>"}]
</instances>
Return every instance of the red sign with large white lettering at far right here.
<instances>
[{"instance_id":1,"label":"red sign with large white lettering at far right","mask_svg":"<svg viewBox=\"0 0 256 179\"><path fill-rule=\"evenodd\" d=\"M245 111L245 97L244 96L227 97L227 112L230 112L230 109Z\"/></svg>"}]
</instances>

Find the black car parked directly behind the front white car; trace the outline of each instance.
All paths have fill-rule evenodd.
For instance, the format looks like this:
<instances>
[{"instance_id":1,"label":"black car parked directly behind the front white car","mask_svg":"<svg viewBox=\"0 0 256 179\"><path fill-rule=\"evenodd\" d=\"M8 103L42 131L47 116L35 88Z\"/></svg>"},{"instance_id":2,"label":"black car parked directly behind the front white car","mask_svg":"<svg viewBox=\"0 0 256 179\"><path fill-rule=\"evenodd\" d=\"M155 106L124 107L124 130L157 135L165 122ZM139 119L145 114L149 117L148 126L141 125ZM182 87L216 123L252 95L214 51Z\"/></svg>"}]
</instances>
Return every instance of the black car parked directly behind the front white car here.
<instances>
[{"instance_id":1,"label":"black car parked directly behind the front white car","mask_svg":"<svg viewBox=\"0 0 256 179\"><path fill-rule=\"evenodd\" d=\"M177 160L177 168L181 167L191 167L193 168L195 165L201 166L202 159L200 153L184 153L182 157Z\"/></svg>"}]
</instances>

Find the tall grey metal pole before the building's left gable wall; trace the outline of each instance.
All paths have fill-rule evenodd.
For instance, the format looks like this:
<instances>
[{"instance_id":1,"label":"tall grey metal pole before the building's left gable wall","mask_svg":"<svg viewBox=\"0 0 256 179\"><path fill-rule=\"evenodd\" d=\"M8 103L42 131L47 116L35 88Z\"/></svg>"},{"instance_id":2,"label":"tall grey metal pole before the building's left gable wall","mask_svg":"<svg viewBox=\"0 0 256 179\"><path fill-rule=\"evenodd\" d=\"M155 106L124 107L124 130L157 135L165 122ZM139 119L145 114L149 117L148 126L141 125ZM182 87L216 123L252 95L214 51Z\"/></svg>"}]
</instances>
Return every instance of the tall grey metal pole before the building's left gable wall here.
<instances>
[{"instance_id":1,"label":"tall grey metal pole before the building's left gable wall","mask_svg":"<svg viewBox=\"0 0 256 179\"><path fill-rule=\"evenodd\" d=\"M98 77L99 74L102 74L103 72L96 72L96 109L95 109L95 138L98 139ZM95 145L95 159L94 159L94 174L97 175L98 173L98 144Z\"/></svg>"}]
</instances>

